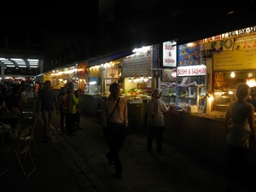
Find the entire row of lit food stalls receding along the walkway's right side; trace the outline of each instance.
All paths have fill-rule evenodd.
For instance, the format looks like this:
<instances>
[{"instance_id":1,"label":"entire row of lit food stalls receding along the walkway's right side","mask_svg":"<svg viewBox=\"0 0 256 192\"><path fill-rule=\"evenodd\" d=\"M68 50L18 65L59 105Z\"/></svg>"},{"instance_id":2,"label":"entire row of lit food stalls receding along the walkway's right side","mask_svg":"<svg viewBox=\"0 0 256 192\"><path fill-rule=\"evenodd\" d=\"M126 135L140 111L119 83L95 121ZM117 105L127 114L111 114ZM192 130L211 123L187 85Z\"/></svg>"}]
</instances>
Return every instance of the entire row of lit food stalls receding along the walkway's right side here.
<instances>
[{"instance_id":1,"label":"entire row of lit food stalls receding along the walkway's right side","mask_svg":"<svg viewBox=\"0 0 256 192\"><path fill-rule=\"evenodd\" d=\"M45 73L44 80L51 80L55 89L73 81L84 90L84 111L93 115L109 95L109 85L118 82L121 96L129 102L129 119L141 131L145 104L151 91L160 87L161 99L176 108L165 114L166 143L225 163L224 113L235 100L236 84L249 84L248 102L256 101L256 26L188 44L172 39L133 51L113 61L84 61Z\"/></svg>"}]
</instances>

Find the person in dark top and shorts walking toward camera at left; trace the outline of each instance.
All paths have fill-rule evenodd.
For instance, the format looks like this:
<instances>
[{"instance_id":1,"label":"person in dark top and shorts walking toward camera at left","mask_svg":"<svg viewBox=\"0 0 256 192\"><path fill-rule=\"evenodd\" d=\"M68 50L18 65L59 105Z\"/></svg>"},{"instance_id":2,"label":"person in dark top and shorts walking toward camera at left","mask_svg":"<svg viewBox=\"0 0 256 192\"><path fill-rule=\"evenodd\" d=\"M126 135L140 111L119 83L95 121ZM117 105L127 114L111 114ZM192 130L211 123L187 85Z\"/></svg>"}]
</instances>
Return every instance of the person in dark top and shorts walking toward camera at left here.
<instances>
[{"instance_id":1,"label":"person in dark top and shorts walking toward camera at left","mask_svg":"<svg viewBox=\"0 0 256 192\"><path fill-rule=\"evenodd\" d=\"M44 119L45 139L49 139L49 124L54 111L54 103L56 113L59 114L58 101L55 90L51 90L51 83L49 80L44 82L44 88L38 91L37 113L39 114L39 105L41 103L41 113Z\"/></svg>"}]
</instances>

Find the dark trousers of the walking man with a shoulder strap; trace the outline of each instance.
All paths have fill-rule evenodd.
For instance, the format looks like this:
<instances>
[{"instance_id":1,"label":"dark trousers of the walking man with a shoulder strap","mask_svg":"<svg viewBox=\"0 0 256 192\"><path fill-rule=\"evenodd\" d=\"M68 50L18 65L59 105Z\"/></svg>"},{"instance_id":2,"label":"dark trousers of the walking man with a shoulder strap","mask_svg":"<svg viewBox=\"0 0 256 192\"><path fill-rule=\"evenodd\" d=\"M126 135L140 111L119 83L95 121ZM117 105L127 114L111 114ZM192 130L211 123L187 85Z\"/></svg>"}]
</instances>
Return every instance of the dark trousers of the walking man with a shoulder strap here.
<instances>
[{"instance_id":1,"label":"dark trousers of the walking man with a shoulder strap","mask_svg":"<svg viewBox=\"0 0 256 192\"><path fill-rule=\"evenodd\" d=\"M120 125L115 124L109 124L107 129L109 152L106 155L113 159L115 171L121 173L123 172L123 165L119 160L119 150L125 143L125 130Z\"/></svg>"}]
</instances>

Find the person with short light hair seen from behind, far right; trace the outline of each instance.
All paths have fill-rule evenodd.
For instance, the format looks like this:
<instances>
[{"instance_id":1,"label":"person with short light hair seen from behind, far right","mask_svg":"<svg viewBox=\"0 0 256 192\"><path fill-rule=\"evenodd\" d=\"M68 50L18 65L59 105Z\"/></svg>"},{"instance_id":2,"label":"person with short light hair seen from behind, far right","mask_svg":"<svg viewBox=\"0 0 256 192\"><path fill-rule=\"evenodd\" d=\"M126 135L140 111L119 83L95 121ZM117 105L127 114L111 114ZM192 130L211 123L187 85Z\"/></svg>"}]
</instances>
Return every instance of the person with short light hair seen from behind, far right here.
<instances>
[{"instance_id":1,"label":"person with short light hair seen from behind, far right","mask_svg":"<svg viewBox=\"0 0 256 192\"><path fill-rule=\"evenodd\" d=\"M228 191L242 190L247 181L247 169L251 156L253 141L256 139L254 107L246 102L250 87L241 83L236 85L236 101L230 102L225 113L224 125L227 130L228 158L227 182ZM236 186L232 186L232 180ZM237 190L238 191L238 190Z\"/></svg>"}]
</instances>

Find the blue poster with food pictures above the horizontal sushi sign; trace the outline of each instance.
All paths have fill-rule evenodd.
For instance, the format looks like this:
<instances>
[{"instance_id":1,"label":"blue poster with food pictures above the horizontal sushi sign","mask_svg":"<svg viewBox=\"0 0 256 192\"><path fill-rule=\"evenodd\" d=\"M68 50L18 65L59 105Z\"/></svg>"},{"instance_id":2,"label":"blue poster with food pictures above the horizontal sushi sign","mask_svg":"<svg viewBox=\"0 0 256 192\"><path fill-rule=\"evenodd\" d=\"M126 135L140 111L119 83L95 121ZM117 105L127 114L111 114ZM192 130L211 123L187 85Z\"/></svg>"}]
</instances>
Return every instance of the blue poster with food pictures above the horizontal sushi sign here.
<instances>
[{"instance_id":1,"label":"blue poster with food pictures above the horizontal sushi sign","mask_svg":"<svg viewBox=\"0 0 256 192\"><path fill-rule=\"evenodd\" d=\"M177 66L200 65L200 46L197 42L182 44L177 47Z\"/></svg>"}]
</instances>

